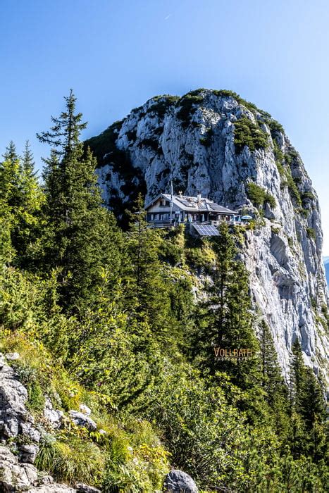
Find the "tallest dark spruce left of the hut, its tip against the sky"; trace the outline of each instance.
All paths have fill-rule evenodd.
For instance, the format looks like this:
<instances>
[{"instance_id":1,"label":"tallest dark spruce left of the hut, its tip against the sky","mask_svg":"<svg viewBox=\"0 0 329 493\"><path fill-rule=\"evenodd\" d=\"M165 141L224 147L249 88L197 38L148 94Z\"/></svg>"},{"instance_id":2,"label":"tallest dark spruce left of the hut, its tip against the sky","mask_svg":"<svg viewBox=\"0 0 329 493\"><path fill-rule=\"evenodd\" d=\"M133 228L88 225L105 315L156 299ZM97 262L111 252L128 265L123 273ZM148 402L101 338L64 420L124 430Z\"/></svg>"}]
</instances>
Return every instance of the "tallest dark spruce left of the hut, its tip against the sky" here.
<instances>
[{"instance_id":1,"label":"tallest dark spruce left of the hut, its tip against the sky","mask_svg":"<svg viewBox=\"0 0 329 493\"><path fill-rule=\"evenodd\" d=\"M46 228L39 257L44 272L58 269L61 305L78 311L97 297L104 271L112 276L113 289L118 282L120 234L113 215L102 206L96 160L80 142L87 124L75 113L72 90L65 101L65 111L51 117L51 129L37 135L51 145L50 157L44 159Z\"/></svg>"}]
</instances>

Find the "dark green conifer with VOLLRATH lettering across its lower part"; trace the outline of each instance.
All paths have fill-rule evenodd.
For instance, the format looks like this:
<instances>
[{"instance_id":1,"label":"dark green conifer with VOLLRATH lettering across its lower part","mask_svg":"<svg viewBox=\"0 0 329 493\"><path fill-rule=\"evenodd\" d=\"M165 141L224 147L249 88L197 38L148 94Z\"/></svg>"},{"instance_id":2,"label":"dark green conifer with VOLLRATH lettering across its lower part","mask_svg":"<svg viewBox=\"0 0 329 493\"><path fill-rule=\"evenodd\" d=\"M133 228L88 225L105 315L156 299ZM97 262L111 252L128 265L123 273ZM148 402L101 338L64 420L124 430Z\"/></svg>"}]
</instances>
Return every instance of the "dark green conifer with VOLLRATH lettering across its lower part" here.
<instances>
[{"instance_id":1,"label":"dark green conifer with VOLLRATH lettering across its lower part","mask_svg":"<svg viewBox=\"0 0 329 493\"><path fill-rule=\"evenodd\" d=\"M219 227L219 236L213 239L213 250L216 254L216 270L213 273L213 285L209 287L209 299L204 306L204 320L198 336L198 359L212 373L216 370L225 371L232 377L232 382L247 389L259 380L259 344L252 325L247 270L241 261L236 260L235 239L226 223ZM214 354L215 347L228 351L244 349L245 356L248 350L252 357L229 358L218 362Z\"/></svg>"}]
</instances>

